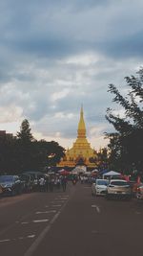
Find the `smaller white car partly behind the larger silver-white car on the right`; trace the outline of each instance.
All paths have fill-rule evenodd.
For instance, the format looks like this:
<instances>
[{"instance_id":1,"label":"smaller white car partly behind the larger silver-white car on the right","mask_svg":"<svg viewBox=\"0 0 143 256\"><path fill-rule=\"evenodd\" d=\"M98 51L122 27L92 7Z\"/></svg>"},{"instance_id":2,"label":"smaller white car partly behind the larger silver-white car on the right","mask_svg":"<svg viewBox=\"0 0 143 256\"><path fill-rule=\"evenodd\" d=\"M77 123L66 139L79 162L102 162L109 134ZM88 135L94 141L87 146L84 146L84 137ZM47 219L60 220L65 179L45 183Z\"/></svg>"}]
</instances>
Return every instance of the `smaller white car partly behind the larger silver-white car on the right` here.
<instances>
[{"instance_id":1,"label":"smaller white car partly behind the larger silver-white car on the right","mask_svg":"<svg viewBox=\"0 0 143 256\"><path fill-rule=\"evenodd\" d=\"M92 183L92 196L105 196L108 184L108 179L97 178L95 183Z\"/></svg>"}]
</instances>

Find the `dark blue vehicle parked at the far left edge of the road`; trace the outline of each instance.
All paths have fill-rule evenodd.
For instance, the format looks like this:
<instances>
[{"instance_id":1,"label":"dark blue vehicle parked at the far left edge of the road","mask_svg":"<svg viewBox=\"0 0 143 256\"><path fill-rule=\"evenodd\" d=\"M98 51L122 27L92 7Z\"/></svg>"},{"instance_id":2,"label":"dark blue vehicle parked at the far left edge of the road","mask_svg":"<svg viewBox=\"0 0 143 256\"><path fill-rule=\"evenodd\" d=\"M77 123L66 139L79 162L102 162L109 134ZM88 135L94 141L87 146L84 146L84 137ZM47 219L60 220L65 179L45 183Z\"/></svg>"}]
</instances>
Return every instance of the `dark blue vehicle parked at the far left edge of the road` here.
<instances>
[{"instance_id":1,"label":"dark blue vehicle parked at the far left edge of the road","mask_svg":"<svg viewBox=\"0 0 143 256\"><path fill-rule=\"evenodd\" d=\"M0 175L0 186L3 195L21 194L23 185L18 175Z\"/></svg>"}]
</instances>

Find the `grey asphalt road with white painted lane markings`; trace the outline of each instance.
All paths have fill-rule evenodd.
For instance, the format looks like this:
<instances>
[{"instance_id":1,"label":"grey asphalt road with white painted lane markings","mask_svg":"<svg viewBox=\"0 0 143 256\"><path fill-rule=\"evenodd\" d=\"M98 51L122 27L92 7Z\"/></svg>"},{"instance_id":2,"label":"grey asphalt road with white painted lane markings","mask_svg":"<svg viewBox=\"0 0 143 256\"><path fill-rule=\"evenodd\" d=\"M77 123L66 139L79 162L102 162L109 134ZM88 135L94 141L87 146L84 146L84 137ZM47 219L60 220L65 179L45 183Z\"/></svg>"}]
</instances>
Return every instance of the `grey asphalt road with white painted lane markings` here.
<instances>
[{"instance_id":1,"label":"grey asphalt road with white painted lane markings","mask_svg":"<svg viewBox=\"0 0 143 256\"><path fill-rule=\"evenodd\" d=\"M0 199L0 256L143 256L143 201L91 186Z\"/></svg>"}]
</instances>

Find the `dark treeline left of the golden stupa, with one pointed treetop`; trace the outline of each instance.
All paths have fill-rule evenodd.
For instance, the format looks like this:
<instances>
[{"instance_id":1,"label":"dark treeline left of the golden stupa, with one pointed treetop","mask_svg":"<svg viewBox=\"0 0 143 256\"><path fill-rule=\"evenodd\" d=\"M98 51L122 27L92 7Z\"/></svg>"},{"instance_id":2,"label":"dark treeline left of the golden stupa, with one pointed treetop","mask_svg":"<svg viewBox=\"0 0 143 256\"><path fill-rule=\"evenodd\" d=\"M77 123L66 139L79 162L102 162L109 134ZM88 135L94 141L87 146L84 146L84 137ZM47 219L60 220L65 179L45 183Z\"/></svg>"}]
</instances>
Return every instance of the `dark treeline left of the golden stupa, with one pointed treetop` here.
<instances>
[{"instance_id":1,"label":"dark treeline left of the golden stupa, with one pointed treetop","mask_svg":"<svg viewBox=\"0 0 143 256\"><path fill-rule=\"evenodd\" d=\"M44 171L56 166L64 153L64 148L55 141L35 140L25 119L16 136L0 136L0 174Z\"/></svg>"}]
</instances>

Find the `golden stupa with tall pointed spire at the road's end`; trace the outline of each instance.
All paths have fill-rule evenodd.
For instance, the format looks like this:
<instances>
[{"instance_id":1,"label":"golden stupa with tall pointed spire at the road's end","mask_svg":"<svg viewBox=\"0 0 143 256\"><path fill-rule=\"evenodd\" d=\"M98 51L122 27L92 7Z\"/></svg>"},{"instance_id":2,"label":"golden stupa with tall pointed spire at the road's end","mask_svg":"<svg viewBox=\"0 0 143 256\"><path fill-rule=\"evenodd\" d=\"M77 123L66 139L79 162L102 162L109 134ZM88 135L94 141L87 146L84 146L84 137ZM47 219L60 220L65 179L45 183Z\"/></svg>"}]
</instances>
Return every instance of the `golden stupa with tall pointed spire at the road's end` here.
<instances>
[{"instance_id":1,"label":"golden stupa with tall pointed spire at the road's end","mask_svg":"<svg viewBox=\"0 0 143 256\"><path fill-rule=\"evenodd\" d=\"M96 151L91 148L91 144L86 138L86 126L84 121L83 107L80 110L80 120L77 129L77 139L73 143L72 149L68 149L65 157L61 159L58 167L72 167L85 165L90 168L96 167L95 163L90 161L90 158L96 156Z\"/></svg>"}]
</instances>

